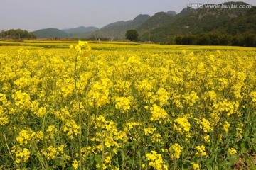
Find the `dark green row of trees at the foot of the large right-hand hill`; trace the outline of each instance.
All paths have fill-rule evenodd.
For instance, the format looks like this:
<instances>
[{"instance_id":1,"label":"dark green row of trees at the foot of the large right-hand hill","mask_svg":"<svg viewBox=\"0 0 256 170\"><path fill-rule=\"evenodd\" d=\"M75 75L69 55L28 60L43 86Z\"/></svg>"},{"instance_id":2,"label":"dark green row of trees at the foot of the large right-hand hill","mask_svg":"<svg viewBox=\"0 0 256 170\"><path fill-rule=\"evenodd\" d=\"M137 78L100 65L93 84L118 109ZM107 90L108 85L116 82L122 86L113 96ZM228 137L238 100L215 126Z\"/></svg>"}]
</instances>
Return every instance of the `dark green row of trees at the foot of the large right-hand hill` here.
<instances>
[{"instance_id":1,"label":"dark green row of trees at the foot of the large right-hand hill","mask_svg":"<svg viewBox=\"0 0 256 170\"><path fill-rule=\"evenodd\" d=\"M232 45L256 47L256 34L228 35L202 33L198 35L177 35L176 45Z\"/></svg>"}]
</instances>

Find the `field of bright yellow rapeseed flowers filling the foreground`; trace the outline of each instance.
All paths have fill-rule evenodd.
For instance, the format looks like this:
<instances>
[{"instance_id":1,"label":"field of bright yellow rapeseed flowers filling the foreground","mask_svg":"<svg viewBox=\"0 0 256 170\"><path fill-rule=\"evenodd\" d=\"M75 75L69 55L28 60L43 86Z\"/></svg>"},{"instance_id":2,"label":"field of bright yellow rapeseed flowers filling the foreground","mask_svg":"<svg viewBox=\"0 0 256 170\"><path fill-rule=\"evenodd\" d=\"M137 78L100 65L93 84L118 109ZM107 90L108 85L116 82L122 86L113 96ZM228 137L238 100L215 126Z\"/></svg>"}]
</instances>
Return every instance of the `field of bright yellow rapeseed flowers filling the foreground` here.
<instances>
[{"instance_id":1,"label":"field of bright yellow rapeseed flowers filling the foreground","mask_svg":"<svg viewBox=\"0 0 256 170\"><path fill-rule=\"evenodd\" d=\"M256 169L255 48L8 43L0 169Z\"/></svg>"}]
</instances>

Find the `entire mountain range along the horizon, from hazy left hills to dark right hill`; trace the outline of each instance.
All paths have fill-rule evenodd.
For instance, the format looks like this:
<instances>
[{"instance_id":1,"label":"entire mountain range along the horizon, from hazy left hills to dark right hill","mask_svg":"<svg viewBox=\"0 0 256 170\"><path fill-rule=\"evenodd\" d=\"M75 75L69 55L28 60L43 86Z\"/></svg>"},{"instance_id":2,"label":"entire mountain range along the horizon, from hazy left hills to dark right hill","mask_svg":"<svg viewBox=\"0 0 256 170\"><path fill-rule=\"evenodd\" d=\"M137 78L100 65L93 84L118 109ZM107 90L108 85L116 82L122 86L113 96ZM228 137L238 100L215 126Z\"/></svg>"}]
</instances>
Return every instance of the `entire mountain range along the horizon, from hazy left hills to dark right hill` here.
<instances>
[{"instance_id":1,"label":"entire mountain range along the horizon, from hazy left hills to dark right hill","mask_svg":"<svg viewBox=\"0 0 256 170\"><path fill-rule=\"evenodd\" d=\"M220 6L248 6L244 2L226 2ZM208 6L208 7L207 7ZM209 7L211 6L211 7ZM216 4L205 4L203 8L184 8L158 12L153 16L139 15L133 20L117 21L100 29L78 27L65 30L48 28L34 31L38 38L108 38L124 40L127 30L136 29L139 40L170 42L178 35L200 35L203 33L239 35L255 34L256 8L216 8Z\"/></svg>"}]
</instances>

